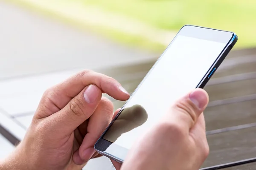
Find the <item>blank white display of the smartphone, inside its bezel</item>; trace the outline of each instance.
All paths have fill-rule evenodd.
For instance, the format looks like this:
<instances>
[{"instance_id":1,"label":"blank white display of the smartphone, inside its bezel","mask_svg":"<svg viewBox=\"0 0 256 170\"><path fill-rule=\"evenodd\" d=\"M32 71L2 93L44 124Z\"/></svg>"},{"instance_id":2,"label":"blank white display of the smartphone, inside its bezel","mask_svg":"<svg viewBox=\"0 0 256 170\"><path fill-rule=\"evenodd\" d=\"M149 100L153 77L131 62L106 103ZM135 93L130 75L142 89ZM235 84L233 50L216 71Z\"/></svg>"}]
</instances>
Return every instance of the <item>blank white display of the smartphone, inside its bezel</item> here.
<instances>
[{"instance_id":1,"label":"blank white display of the smartphone, inside its bezel","mask_svg":"<svg viewBox=\"0 0 256 170\"><path fill-rule=\"evenodd\" d=\"M115 130L110 128L103 139L130 149L140 136L167 113L177 99L196 88L225 45L221 42L178 35L124 106L124 109L128 109L140 105L145 109L146 120L137 127L135 125L120 133L116 139L112 138ZM138 119L139 117L141 116L138 116ZM128 119L133 121L132 118ZM133 122L136 122L136 119L135 113ZM116 122L112 126L115 124Z\"/></svg>"}]
</instances>

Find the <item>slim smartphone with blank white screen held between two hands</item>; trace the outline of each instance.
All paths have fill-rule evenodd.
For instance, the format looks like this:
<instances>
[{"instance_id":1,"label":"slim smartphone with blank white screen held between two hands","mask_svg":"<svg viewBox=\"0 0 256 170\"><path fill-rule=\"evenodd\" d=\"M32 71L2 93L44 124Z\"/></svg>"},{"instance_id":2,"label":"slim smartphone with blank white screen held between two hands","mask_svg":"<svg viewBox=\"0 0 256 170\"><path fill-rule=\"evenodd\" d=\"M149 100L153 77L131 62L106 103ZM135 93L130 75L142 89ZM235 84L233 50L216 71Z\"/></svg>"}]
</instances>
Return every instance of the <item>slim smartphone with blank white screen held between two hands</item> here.
<instances>
[{"instance_id":1,"label":"slim smartphone with blank white screen held between two hands","mask_svg":"<svg viewBox=\"0 0 256 170\"><path fill-rule=\"evenodd\" d=\"M183 26L96 142L95 150L122 163L134 142L177 99L204 88L237 40L230 31Z\"/></svg>"}]
</instances>

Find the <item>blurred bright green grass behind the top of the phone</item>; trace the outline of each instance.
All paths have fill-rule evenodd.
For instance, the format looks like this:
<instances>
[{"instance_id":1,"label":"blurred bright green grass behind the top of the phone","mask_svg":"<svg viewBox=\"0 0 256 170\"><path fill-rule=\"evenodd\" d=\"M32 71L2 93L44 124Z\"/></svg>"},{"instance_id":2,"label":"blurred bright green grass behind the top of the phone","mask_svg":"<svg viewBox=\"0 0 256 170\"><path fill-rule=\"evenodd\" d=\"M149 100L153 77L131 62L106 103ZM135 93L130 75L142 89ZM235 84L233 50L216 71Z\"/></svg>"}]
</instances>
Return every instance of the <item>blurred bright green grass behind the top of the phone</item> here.
<instances>
[{"instance_id":1,"label":"blurred bright green grass behind the top of the phone","mask_svg":"<svg viewBox=\"0 0 256 170\"><path fill-rule=\"evenodd\" d=\"M178 31L191 24L234 31L239 36L236 47L256 46L256 0L80 1L165 30Z\"/></svg>"}]
</instances>

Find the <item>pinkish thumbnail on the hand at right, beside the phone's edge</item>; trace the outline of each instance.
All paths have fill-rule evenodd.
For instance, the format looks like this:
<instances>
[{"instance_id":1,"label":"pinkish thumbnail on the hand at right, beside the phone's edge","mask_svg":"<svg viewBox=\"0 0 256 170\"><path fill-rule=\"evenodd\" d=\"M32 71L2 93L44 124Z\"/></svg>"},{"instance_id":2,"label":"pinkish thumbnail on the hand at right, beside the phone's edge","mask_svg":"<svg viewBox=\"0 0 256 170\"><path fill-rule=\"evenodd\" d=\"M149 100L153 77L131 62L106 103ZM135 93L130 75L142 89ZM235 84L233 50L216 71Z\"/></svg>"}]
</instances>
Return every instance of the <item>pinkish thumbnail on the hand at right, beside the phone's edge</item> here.
<instances>
[{"instance_id":1,"label":"pinkish thumbnail on the hand at right, beside the phone's edge","mask_svg":"<svg viewBox=\"0 0 256 170\"><path fill-rule=\"evenodd\" d=\"M205 108L208 104L208 96L205 91L201 89L195 89L189 94L189 99L199 108Z\"/></svg>"}]
</instances>

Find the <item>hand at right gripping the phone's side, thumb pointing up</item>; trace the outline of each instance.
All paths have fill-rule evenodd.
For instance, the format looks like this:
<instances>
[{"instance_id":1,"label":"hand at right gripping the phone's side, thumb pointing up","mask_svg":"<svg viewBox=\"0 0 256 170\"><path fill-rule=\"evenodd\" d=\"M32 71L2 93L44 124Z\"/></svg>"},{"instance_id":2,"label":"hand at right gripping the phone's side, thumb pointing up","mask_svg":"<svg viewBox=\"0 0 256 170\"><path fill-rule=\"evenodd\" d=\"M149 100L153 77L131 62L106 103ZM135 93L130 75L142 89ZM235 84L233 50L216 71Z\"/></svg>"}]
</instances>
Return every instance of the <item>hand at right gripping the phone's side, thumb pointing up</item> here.
<instances>
[{"instance_id":1,"label":"hand at right gripping the phone's side, thumb pointing up","mask_svg":"<svg viewBox=\"0 0 256 170\"><path fill-rule=\"evenodd\" d=\"M117 170L198 170L209 154L202 112L209 97L195 89L178 100L169 113L129 151Z\"/></svg>"}]
</instances>

